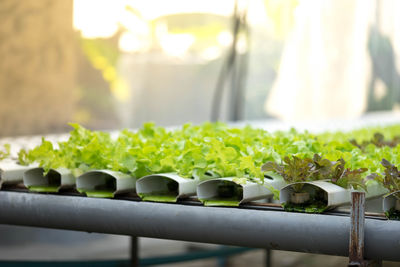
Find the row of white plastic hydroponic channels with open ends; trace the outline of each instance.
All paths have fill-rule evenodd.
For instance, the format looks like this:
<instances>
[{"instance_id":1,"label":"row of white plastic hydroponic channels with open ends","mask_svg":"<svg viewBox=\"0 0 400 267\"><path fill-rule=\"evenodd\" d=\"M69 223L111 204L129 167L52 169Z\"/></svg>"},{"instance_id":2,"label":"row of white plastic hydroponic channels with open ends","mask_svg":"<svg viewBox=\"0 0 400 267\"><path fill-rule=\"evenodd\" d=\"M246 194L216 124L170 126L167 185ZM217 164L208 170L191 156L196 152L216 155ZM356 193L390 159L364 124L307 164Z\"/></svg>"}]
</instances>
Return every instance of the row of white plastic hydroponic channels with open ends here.
<instances>
[{"instance_id":1,"label":"row of white plastic hydroponic channels with open ends","mask_svg":"<svg viewBox=\"0 0 400 267\"><path fill-rule=\"evenodd\" d=\"M128 174L110 170L92 170L75 178L67 169L51 169L44 175L38 166L22 166L13 161L0 163L0 188L2 184L23 183L33 192L59 192L75 188L89 197L114 197L116 194L135 193L145 201L176 202L178 199L197 195L207 206L238 206L241 203L268 199L272 188L280 190L280 202L287 207L300 207L318 201L323 210L346 205L351 201L351 190L327 181L285 184L276 174L266 175L264 185L239 182L234 177L200 179L183 178L176 173L154 174L136 179ZM242 180L243 181L243 180ZM301 187L302 193L296 190ZM366 198L384 196L383 210L400 211L399 192L387 190L375 181L367 184ZM290 208L289 207L289 208ZM296 211L296 209L294 209ZM301 211L301 210L300 210Z\"/></svg>"}]
</instances>

